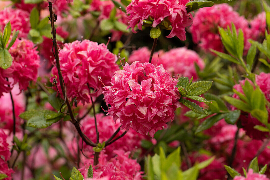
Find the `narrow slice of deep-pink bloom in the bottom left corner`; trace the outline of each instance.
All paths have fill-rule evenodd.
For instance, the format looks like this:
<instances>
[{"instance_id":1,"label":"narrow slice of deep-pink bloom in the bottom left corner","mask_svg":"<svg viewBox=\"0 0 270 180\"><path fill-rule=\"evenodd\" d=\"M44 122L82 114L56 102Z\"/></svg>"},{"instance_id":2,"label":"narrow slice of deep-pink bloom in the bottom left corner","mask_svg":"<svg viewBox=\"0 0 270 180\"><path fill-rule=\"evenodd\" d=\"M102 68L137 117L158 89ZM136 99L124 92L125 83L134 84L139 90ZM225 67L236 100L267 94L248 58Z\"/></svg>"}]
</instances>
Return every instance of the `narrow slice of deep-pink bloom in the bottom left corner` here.
<instances>
[{"instance_id":1,"label":"narrow slice of deep-pink bloom in the bottom left corner","mask_svg":"<svg viewBox=\"0 0 270 180\"><path fill-rule=\"evenodd\" d=\"M11 180L12 169L8 168L8 160L11 156L8 143L6 142L6 134L3 129L0 129L0 174L6 174L8 177L4 180Z\"/></svg>"}]
</instances>

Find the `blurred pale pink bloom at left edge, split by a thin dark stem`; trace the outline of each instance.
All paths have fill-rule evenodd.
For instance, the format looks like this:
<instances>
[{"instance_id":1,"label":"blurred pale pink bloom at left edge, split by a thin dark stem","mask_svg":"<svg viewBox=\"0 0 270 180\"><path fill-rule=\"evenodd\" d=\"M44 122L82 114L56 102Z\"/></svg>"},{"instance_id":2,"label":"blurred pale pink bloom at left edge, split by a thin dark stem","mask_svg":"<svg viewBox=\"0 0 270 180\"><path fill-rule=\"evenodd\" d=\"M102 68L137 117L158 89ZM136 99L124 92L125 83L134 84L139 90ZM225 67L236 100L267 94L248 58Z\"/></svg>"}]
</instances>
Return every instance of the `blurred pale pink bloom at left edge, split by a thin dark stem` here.
<instances>
[{"instance_id":1,"label":"blurred pale pink bloom at left edge, split by a thin dark stem","mask_svg":"<svg viewBox=\"0 0 270 180\"><path fill-rule=\"evenodd\" d=\"M19 130L20 125L22 124L21 118L19 115L25 110L25 98L23 94L20 93L18 85L15 85L11 90L14 106L15 106L15 115L16 115L16 130ZM9 93L4 93L0 97L0 128L8 129L9 134L13 132L13 112L12 112L12 102Z\"/></svg>"}]
</instances>

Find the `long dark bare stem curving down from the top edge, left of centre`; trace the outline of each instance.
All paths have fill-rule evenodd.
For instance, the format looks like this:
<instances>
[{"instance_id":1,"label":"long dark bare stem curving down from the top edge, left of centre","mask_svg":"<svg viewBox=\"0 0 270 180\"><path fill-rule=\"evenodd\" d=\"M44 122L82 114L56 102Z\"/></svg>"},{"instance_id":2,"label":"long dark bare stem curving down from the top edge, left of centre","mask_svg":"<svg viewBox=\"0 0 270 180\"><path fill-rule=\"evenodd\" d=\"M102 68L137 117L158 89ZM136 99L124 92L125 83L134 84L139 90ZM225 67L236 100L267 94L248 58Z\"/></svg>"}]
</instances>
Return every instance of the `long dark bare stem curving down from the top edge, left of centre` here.
<instances>
[{"instance_id":1,"label":"long dark bare stem curving down from the top edge, left of centre","mask_svg":"<svg viewBox=\"0 0 270 180\"><path fill-rule=\"evenodd\" d=\"M54 56L55 56L55 62L56 62L56 68L57 68L57 71L58 71L58 76L59 76L59 83L60 83L60 87L61 87L61 90L62 90L62 94L63 95L66 95L66 89L65 89L65 85L64 85L64 81L63 81L63 76L62 76L62 71L61 71L61 68L60 68L60 62L59 62L59 55L58 55L58 46L56 44L56 29L55 29L55 25L54 25L54 22L56 21L56 19L54 19L54 14L52 12L52 2L49 2L49 12L50 12L50 22L51 22L51 28L52 28L52 41L53 41L53 47L54 47ZM65 96L66 98L66 96ZM78 121L75 119L73 113L72 113L72 109L71 109L71 106L69 104L69 101L68 99L65 99L66 100L66 105L67 105L67 108L68 108L68 111L69 111L69 115L70 115L70 118L71 118L71 122L74 124L76 130L78 131L79 135L82 137L83 141L87 144L87 145L90 145L90 146L97 146L96 143L93 143L83 132L82 130L80 129L80 125L78 123Z\"/></svg>"}]
</instances>

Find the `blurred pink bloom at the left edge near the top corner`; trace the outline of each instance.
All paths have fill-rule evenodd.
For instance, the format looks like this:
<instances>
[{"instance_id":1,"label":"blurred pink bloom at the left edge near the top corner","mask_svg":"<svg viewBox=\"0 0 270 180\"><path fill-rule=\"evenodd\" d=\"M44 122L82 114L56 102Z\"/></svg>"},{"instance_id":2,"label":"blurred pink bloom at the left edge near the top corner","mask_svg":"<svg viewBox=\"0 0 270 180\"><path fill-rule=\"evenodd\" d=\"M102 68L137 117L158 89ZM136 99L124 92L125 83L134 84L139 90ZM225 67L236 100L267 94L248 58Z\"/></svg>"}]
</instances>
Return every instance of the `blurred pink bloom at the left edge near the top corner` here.
<instances>
[{"instance_id":1,"label":"blurred pink bloom at the left edge near the top corner","mask_svg":"<svg viewBox=\"0 0 270 180\"><path fill-rule=\"evenodd\" d=\"M19 30L18 38L27 38L30 30L29 13L21 9L5 8L0 11L0 30L10 21L12 31Z\"/></svg>"}]
</instances>

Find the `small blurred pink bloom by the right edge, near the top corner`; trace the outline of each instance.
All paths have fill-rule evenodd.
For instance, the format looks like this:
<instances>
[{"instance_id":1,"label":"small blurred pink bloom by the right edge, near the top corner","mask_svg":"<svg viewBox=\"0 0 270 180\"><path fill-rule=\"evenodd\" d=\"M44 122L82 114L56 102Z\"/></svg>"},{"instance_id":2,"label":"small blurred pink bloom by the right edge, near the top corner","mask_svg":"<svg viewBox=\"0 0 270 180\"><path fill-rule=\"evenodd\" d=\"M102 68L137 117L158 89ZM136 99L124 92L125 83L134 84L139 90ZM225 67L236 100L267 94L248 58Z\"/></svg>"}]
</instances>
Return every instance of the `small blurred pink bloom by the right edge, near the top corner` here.
<instances>
[{"instance_id":1,"label":"small blurred pink bloom by the right edge, near the top corner","mask_svg":"<svg viewBox=\"0 0 270 180\"><path fill-rule=\"evenodd\" d=\"M266 30L266 16L265 12L258 14L257 16L252 19L250 22L251 25L251 38L259 41L259 38L265 37L265 30Z\"/></svg>"}]
</instances>

